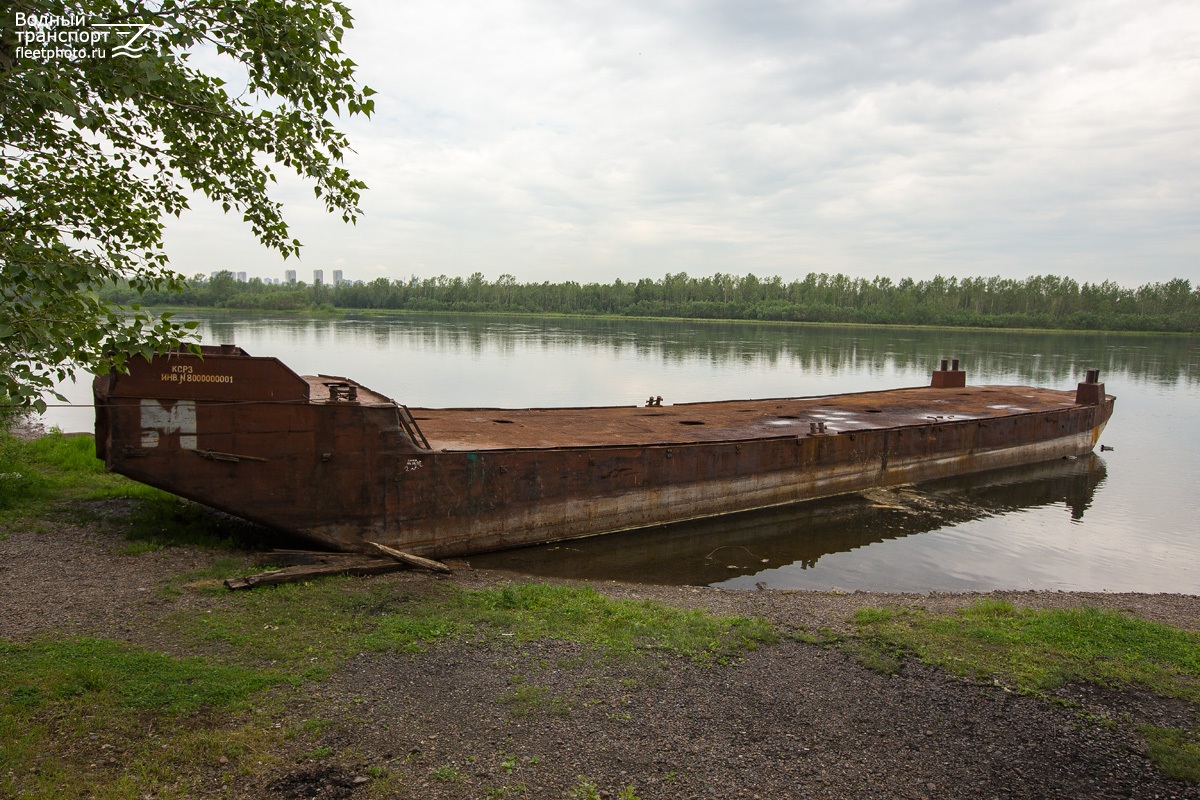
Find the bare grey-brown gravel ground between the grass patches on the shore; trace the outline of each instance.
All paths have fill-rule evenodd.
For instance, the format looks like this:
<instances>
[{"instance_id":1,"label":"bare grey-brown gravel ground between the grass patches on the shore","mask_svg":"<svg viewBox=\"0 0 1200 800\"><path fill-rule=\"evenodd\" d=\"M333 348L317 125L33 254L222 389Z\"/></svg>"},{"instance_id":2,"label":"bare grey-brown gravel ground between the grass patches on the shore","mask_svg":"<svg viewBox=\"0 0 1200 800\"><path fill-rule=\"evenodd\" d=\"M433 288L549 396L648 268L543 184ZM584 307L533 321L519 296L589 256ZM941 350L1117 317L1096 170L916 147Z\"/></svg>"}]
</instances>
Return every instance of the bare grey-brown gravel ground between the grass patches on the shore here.
<instances>
[{"instance_id":1,"label":"bare grey-brown gravel ground between the grass patches on the shore","mask_svg":"<svg viewBox=\"0 0 1200 800\"><path fill-rule=\"evenodd\" d=\"M209 602L155 591L211 554L121 555L118 534L73 525L0 541L0 638L113 637L170 652L164 613ZM457 564L466 588L521 576ZM402 572L371 578L412 583ZM848 630L862 606L949 610L982 595L883 595L594 584L785 628ZM1200 630L1200 597L995 593L1025 607L1091 604ZM1198 798L1158 775L1139 723L1200 728L1193 705L1067 687L1063 703L917 663L898 675L836 649L782 642L728 666L600 658L559 642L456 640L364 654L317 686L298 718L330 721L314 757L223 784L239 798ZM305 746L311 747L312 742Z\"/></svg>"}]
</instances>

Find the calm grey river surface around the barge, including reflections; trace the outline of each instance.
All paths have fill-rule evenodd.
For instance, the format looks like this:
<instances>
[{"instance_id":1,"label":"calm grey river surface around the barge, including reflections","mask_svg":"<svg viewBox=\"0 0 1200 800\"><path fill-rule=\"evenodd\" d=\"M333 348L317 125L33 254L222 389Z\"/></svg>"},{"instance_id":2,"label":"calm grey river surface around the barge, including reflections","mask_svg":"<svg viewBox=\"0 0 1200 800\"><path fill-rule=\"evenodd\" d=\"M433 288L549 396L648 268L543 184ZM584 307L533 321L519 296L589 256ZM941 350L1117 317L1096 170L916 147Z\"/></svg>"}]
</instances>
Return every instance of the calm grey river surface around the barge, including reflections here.
<instances>
[{"instance_id":1,"label":"calm grey river surface around the barge, including reflections","mask_svg":"<svg viewBox=\"0 0 1200 800\"><path fill-rule=\"evenodd\" d=\"M667 404L928 385L1074 389L1100 369L1110 452L700 524L474 557L533 575L754 589L1200 594L1200 338L772 324L192 314L203 341L409 407ZM65 393L90 403L86 381ZM91 428L91 409L47 422Z\"/></svg>"}]
</instances>

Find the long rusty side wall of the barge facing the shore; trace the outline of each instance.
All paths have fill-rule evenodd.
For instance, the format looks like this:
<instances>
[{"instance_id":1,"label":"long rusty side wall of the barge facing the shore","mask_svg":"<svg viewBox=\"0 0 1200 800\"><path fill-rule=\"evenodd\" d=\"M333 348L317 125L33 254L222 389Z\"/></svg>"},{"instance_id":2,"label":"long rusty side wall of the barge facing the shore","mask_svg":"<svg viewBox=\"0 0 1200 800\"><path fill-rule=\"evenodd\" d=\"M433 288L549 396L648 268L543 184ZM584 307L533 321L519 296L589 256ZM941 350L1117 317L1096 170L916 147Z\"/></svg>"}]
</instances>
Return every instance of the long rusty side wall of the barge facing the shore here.
<instances>
[{"instance_id":1,"label":"long rusty side wall of the barge facing the shore","mask_svg":"<svg viewBox=\"0 0 1200 800\"><path fill-rule=\"evenodd\" d=\"M998 428L990 432L992 437L980 435L978 423L964 422L905 432L908 441L895 432L859 432L853 438L438 458L428 468L422 465L422 476L404 482L404 493L455 488L440 492L440 500L426 509L410 507L412 517L397 528L404 531L401 547L434 557L648 528L1080 456L1093 449L1103 425L1084 427L1088 420L1075 421L1080 429L1049 440L1030 434L1057 421L1014 419L992 423ZM1033 431L1022 437L1022 428ZM1014 444L976 445L1009 434ZM956 439L960 446L943 450L946 439ZM622 476L642 477L643 485L620 486L637 482ZM534 486L535 497L522 499Z\"/></svg>"}]
</instances>

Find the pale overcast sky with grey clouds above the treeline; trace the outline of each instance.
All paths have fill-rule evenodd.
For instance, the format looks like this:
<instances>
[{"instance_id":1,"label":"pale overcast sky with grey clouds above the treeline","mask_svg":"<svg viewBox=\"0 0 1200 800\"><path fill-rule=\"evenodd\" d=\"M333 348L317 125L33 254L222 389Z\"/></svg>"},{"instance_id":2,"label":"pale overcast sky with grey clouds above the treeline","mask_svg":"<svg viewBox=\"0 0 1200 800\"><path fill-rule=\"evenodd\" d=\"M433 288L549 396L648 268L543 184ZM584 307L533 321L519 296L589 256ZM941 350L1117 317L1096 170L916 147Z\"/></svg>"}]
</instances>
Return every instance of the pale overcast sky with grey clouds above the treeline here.
<instances>
[{"instance_id":1,"label":"pale overcast sky with grey clouds above the treeline","mask_svg":"<svg viewBox=\"0 0 1200 800\"><path fill-rule=\"evenodd\" d=\"M347 0L356 227L196 203L175 269L1200 283L1200 4Z\"/></svg>"}]
</instances>

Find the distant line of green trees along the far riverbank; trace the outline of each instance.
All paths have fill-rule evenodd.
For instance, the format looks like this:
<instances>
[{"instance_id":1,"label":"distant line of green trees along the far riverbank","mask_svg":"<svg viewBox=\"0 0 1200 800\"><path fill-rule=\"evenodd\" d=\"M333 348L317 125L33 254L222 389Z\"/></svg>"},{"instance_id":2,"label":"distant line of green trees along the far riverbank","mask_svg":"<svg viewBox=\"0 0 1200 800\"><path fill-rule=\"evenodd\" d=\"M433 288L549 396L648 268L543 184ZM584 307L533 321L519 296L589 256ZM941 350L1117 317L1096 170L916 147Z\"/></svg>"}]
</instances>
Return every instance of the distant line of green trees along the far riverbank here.
<instances>
[{"instance_id":1,"label":"distant line of green trees along the far riverbank","mask_svg":"<svg viewBox=\"0 0 1200 800\"><path fill-rule=\"evenodd\" d=\"M1013 278L913 281L809 273L803 281L775 276L684 272L636 283L518 283L511 275L377 278L370 283L242 283L232 273L196 276L181 295L146 293L138 299L113 285L107 300L208 308L616 314L688 319L757 319L808 323L1050 327L1115 331L1200 331L1200 287L1176 278L1136 289L1111 281L1078 283L1054 275Z\"/></svg>"}]
</instances>

